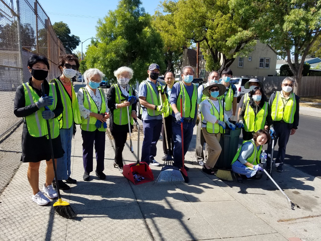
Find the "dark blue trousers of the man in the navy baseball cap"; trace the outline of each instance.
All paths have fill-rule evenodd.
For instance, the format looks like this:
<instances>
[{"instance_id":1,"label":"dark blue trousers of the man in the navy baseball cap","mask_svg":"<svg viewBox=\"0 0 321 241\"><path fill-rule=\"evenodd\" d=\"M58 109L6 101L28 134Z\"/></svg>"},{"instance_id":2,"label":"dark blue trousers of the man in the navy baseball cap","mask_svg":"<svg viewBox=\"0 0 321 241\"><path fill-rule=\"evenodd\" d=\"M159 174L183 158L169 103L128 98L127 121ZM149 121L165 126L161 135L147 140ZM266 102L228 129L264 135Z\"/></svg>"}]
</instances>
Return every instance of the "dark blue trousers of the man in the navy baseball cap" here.
<instances>
[{"instance_id":1,"label":"dark blue trousers of the man in the navy baseball cap","mask_svg":"<svg viewBox=\"0 0 321 241\"><path fill-rule=\"evenodd\" d=\"M156 143L160 138L162 120L143 120L144 140L142 145L142 162L148 165L156 156Z\"/></svg>"}]
</instances>

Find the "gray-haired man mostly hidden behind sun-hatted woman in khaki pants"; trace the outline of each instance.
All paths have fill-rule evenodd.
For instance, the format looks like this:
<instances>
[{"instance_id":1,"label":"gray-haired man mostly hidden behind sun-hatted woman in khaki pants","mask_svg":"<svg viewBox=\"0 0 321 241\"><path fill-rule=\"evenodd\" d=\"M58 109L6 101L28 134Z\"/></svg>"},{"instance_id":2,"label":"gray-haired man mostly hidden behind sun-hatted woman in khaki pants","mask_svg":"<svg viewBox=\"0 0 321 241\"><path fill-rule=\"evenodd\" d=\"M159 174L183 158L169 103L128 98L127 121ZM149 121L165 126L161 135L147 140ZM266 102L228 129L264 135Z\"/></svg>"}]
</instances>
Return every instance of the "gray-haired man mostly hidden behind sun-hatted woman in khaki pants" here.
<instances>
[{"instance_id":1,"label":"gray-haired man mostly hidden behind sun-hatted woman in khaki pants","mask_svg":"<svg viewBox=\"0 0 321 241\"><path fill-rule=\"evenodd\" d=\"M207 96L203 95L203 90L205 87L209 86L212 83L218 83L220 79L220 73L216 70L213 70L207 79L207 83L204 83L200 85L197 89L197 104L199 105L202 101L205 99L208 99ZM200 107L201 108L201 107ZM199 112L201 113L201 112ZM200 114L199 114L200 115ZM199 116L200 117L200 116ZM197 138L196 138L196 158L199 165L204 165L204 160L206 160L207 152L208 152L208 145L205 144L205 153L203 152L203 146L204 146L204 136L202 132L202 122L200 123L199 119L197 119L196 125L197 125Z\"/></svg>"}]
</instances>

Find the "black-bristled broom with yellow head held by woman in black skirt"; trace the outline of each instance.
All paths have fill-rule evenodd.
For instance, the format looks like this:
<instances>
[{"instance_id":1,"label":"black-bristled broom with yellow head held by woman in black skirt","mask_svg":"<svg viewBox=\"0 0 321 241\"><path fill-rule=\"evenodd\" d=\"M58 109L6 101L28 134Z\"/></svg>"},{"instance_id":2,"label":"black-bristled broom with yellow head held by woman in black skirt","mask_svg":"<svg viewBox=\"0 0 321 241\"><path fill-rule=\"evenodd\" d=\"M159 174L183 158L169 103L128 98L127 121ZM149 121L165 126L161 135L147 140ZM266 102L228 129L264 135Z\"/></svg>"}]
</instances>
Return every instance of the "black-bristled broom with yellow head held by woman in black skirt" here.
<instances>
[{"instance_id":1,"label":"black-bristled broom with yellow head held by woman in black skirt","mask_svg":"<svg viewBox=\"0 0 321 241\"><path fill-rule=\"evenodd\" d=\"M43 86L43 84L41 84L41 91L42 91L42 96L45 96L45 87ZM48 107L46 109L49 110ZM47 122L47 129L48 129L51 159L52 159L52 165L54 167L55 180L56 180L56 186L57 186L57 194L58 194L58 201L56 201L54 203L54 210L55 210L56 214L60 215L63 218L72 219L72 218L76 217L77 214L75 213L75 211L73 210L73 208L70 206L70 204L68 202L61 200L60 191L59 191L59 183L58 183L57 172L56 172L54 150L52 148L49 120L46 120L46 122Z\"/></svg>"}]
</instances>

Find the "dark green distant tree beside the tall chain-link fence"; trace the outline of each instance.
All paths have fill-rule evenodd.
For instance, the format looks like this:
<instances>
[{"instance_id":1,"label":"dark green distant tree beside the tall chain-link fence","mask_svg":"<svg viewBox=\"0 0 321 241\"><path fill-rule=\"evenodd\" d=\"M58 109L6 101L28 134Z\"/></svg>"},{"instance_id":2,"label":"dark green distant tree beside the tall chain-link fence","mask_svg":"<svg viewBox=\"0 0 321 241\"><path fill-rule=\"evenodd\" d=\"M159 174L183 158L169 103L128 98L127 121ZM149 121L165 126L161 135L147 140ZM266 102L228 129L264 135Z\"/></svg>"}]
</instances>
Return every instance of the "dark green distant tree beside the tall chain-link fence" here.
<instances>
[{"instance_id":1,"label":"dark green distant tree beside the tall chain-link fence","mask_svg":"<svg viewBox=\"0 0 321 241\"><path fill-rule=\"evenodd\" d=\"M80 44L80 38L75 35L71 35L70 28L68 25L62 21L55 22L52 25L58 39L62 42L65 47L66 53L72 53L72 51L77 48Z\"/></svg>"}]
</instances>

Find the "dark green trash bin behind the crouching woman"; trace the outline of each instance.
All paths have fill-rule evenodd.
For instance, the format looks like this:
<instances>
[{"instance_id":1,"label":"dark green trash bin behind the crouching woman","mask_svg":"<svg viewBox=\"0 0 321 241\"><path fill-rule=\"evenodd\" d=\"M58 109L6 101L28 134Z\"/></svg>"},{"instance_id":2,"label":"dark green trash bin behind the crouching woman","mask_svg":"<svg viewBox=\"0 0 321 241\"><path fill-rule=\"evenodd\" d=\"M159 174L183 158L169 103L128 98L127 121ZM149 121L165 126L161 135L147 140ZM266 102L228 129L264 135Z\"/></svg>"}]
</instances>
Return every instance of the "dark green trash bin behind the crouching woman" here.
<instances>
[{"instance_id":1,"label":"dark green trash bin behind the crouching woman","mask_svg":"<svg viewBox=\"0 0 321 241\"><path fill-rule=\"evenodd\" d=\"M230 121L235 124L235 121ZM229 127L226 127L224 134L224 150L219 156L214 168L224 168L231 169L231 163L238 152L239 147L239 136L241 134L241 128L237 128L235 130L231 130ZM220 144L222 147L223 144L223 135L221 134ZM224 160L223 160L223 151L224 151Z\"/></svg>"}]
</instances>

